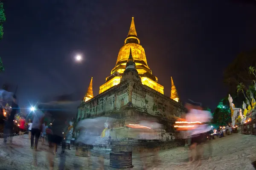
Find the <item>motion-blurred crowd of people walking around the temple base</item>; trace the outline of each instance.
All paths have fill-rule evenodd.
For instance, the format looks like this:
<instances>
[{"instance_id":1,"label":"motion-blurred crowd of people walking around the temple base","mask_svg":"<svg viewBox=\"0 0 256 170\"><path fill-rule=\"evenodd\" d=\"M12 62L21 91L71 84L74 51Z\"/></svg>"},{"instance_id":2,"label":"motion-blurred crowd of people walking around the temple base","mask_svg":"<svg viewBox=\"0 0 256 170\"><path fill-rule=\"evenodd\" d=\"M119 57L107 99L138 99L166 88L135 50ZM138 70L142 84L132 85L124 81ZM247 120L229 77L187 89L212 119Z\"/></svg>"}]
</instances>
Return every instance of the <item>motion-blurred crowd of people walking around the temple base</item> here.
<instances>
[{"instance_id":1,"label":"motion-blurred crowd of people walking around the temple base","mask_svg":"<svg viewBox=\"0 0 256 170\"><path fill-rule=\"evenodd\" d=\"M0 107L8 111L4 125L4 144L12 144L12 127L15 122L15 114L19 109L17 105L16 96L8 91L1 90ZM64 169L65 163L65 149L66 146L70 150L70 144L73 143L73 122L72 115L76 114L76 108L80 101L70 101L59 99L57 101L40 103L35 106L32 111L32 120L29 119L28 123L24 117L21 116L19 120L20 137L28 131L30 140L30 147L33 150L33 164L37 166L37 151L38 142L41 137L41 145L48 145L47 159L49 160L49 169L54 167L54 156L57 154L57 148L61 145L59 169ZM177 121L175 124L176 130L184 132L184 138L188 139L189 144L189 164L198 161L197 166L201 165L201 159L205 148L209 150L209 160L212 158L212 144L209 140L210 135L214 139L224 137L226 134L233 133L231 125L219 127L219 129L212 129L210 125L212 115L209 111L204 111L201 103L196 103L191 100L185 105L187 109L186 118L183 121ZM72 112L74 112L72 114ZM77 136L77 143L88 145L93 148L94 144L110 144L110 127L113 119L107 117L97 117L94 119L84 119L78 122L76 130L80 133ZM104 125L104 127L102 127ZM145 153L154 155L153 164L159 164L158 151L159 135L157 130L163 129L163 125L157 121L141 120L138 125L129 124L127 127L138 130L137 139L140 142L140 157L143 162L143 169L147 168L147 156ZM99 136L99 130L102 131ZM206 145L207 147L204 147ZM102 164L100 169L104 169Z\"/></svg>"}]
</instances>

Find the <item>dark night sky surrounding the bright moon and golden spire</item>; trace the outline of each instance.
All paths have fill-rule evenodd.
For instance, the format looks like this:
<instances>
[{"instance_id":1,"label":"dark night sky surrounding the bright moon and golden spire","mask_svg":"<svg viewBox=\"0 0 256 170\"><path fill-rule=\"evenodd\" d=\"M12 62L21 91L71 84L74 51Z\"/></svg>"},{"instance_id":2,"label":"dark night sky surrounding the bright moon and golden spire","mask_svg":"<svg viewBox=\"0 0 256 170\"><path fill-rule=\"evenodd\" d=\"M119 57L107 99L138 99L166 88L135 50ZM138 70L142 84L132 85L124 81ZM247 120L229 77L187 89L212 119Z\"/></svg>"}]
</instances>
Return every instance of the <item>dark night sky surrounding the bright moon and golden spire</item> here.
<instances>
[{"instance_id":1,"label":"dark night sky surrounding the bright moon and golden spire","mask_svg":"<svg viewBox=\"0 0 256 170\"><path fill-rule=\"evenodd\" d=\"M256 47L255 0L5 0L0 84L18 85L21 107L94 96L116 64L134 16L148 66L170 96L214 109L227 94L224 68ZM83 54L81 63L74 61Z\"/></svg>"}]
</instances>

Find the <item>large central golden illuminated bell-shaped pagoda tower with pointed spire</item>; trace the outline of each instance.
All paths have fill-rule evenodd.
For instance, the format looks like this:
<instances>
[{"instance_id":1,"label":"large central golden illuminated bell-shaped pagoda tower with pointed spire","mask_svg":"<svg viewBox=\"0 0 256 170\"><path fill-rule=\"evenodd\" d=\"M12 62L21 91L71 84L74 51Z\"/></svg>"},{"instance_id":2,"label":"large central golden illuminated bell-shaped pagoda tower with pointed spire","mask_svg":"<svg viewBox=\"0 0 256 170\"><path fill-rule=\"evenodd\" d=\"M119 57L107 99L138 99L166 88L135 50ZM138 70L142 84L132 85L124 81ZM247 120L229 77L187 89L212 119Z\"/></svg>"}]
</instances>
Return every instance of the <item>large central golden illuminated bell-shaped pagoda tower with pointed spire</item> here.
<instances>
[{"instance_id":1,"label":"large central golden illuminated bell-shaped pagoda tower with pointed spire","mask_svg":"<svg viewBox=\"0 0 256 170\"><path fill-rule=\"evenodd\" d=\"M120 83L130 50L136 64L136 69L141 77L142 84L163 94L163 86L157 83L157 77L152 74L152 71L148 67L145 50L140 45L140 40L135 29L134 17L131 18L131 26L125 43L119 50L116 65L112 69L111 75L106 78L106 82L99 87L99 94Z\"/></svg>"}]
</instances>

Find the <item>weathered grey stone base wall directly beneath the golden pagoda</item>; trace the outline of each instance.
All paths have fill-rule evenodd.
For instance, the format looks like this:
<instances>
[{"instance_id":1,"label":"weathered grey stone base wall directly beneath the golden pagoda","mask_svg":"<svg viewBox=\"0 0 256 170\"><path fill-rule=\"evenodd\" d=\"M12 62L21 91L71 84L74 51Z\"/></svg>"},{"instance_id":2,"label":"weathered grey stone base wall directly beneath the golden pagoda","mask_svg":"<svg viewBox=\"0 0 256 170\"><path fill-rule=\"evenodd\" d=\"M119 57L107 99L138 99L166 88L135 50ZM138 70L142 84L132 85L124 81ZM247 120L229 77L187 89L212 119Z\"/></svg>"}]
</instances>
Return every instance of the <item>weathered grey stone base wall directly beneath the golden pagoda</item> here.
<instances>
[{"instance_id":1,"label":"weathered grey stone base wall directly beneath the golden pagoda","mask_svg":"<svg viewBox=\"0 0 256 170\"><path fill-rule=\"evenodd\" d=\"M131 107L128 107L128 103ZM112 127L137 124L141 118L161 119L167 132L174 132L173 118L184 111L178 103L163 94L142 85L140 82L125 80L108 89L78 108L77 121L98 116L110 116L116 119ZM172 121L171 121L172 120Z\"/></svg>"}]
</instances>

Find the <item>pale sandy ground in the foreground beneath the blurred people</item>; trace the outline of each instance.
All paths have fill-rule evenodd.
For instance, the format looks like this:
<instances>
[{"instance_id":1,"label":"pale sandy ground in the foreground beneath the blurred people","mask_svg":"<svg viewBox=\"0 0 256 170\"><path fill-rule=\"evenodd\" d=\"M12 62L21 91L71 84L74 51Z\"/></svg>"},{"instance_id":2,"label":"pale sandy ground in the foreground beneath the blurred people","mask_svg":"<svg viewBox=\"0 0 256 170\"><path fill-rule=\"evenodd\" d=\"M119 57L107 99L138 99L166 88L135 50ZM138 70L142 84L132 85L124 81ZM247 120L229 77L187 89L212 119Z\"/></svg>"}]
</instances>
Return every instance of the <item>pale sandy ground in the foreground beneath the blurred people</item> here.
<instances>
[{"instance_id":1,"label":"pale sandy ground in the foreground beneath the blurred people","mask_svg":"<svg viewBox=\"0 0 256 170\"><path fill-rule=\"evenodd\" d=\"M47 146L41 146L36 152L38 166L32 165L33 150L30 149L30 141L27 135L22 138L15 136L13 144L3 145L0 139L0 170L48 170ZM187 165L187 150L184 147L177 147L159 153L159 164L152 163L153 156L147 156L147 170L254 170L250 164L256 160L256 136L232 134L224 138L212 140L213 154L212 161L208 161L208 150L205 146L204 159L200 167L195 168L197 162ZM82 158L75 156L75 149L66 150L65 169L66 170L96 170L99 166L98 157ZM55 157L55 169L58 169L61 148ZM132 170L142 170L142 163L138 155L133 156ZM88 167L88 159L93 163L93 167ZM109 160L104 160L104 169L109 169Z\"/></svg>"}]
</instances>

